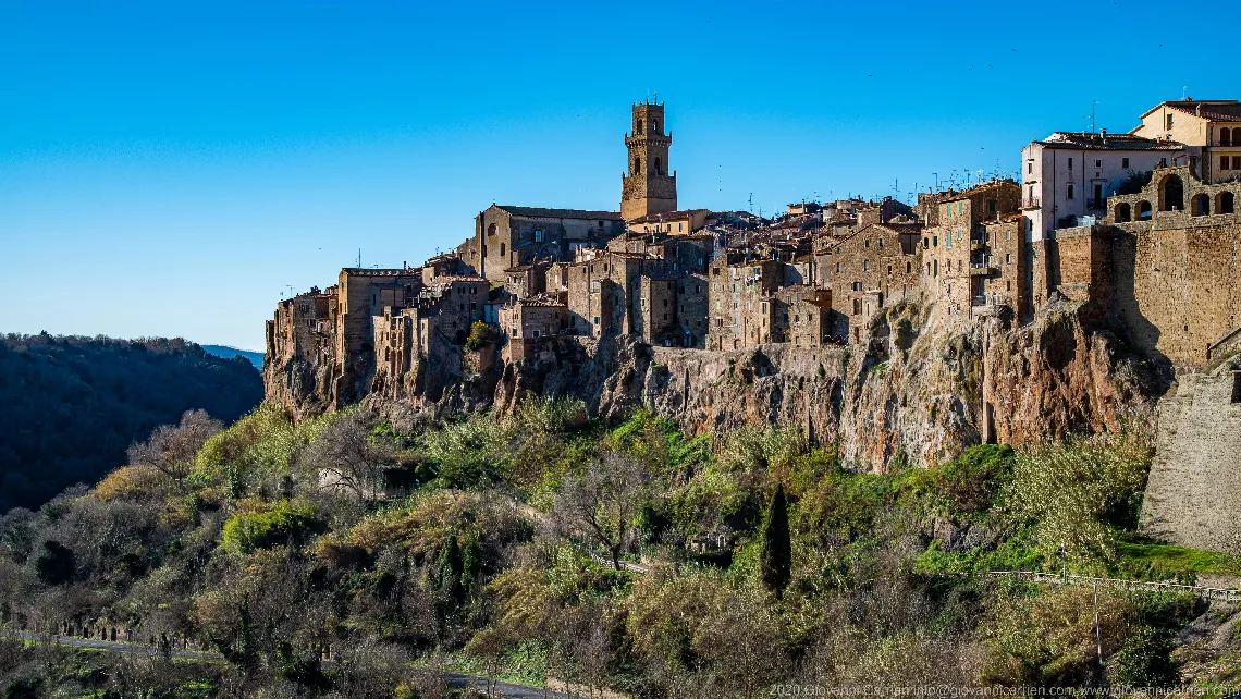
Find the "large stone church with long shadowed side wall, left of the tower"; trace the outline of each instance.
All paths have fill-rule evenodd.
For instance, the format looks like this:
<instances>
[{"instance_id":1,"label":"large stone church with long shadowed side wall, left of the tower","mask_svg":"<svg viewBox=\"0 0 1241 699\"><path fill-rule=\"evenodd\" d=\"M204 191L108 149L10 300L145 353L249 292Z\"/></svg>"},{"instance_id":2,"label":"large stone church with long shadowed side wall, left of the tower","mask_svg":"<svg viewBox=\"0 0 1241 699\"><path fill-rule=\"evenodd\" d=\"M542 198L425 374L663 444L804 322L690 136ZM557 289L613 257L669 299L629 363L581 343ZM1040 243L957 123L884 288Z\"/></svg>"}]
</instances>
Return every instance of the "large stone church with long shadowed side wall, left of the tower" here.
<instances>
[{"instance_id":1,"label":"large stone church with long shadowed side wall, left of the tower","mask_svg":"<svg viewBox=\"0 0 1241 699\"><path fill-rule=\"evenodd\" d=\"M493 204L474 219L474 237L457 256L479 276L503 283L506 269L572 259L575 251L603 247L622 232L624 221L613 211Z\"/></svg>"}]
</instances>

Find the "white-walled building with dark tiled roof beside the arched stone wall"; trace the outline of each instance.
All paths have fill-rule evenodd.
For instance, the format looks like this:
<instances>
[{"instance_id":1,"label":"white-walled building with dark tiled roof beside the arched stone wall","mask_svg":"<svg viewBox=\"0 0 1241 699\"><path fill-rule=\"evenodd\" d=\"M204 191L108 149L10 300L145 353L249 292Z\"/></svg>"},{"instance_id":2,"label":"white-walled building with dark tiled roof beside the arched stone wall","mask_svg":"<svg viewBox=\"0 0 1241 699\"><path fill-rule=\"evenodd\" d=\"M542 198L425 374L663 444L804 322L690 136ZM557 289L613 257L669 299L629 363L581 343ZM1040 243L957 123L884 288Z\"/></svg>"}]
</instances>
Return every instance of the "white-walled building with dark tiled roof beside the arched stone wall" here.
<instances>
[{"instance_id":1,"label":"white-walled building with dark tiled roof beside the arched stone wall","mask_svg":"<svg viewBox=\"0 0 1241 699\"><path fill-rule=\"evenodd\" d=\"M1196 150L1196 149L1189 149ZM1021 149L1026 241L1103 219L1121 183L1159 166L1185 164L1181 143L1132 134L1056 132Z\"/></svg>"}]
</instances>

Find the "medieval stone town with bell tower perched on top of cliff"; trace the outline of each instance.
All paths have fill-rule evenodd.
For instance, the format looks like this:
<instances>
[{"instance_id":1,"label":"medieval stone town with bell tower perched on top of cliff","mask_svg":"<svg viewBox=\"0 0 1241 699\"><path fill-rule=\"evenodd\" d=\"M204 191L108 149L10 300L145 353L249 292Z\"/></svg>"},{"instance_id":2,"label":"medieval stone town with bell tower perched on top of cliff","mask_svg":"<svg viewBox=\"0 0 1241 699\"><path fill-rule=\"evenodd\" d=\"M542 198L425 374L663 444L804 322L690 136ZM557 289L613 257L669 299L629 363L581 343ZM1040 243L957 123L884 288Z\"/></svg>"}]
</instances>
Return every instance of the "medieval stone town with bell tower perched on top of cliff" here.
<instances>
[{"instance_id":1,"label":"medieval stone town with bell tower perched on top of cliff","mask_svg":"<svg viewBox=\"0 0 1241 699\"><path fill-rule=\"evenodd\" d=\"M493 204L421 267L341 269L267 322L268 376L341 406L534 361L568 338L856 346L905 303L968 329L1090 299L1168 366L1205 366L1241 341L1237 101L1163 102L1127 134L1056 132L1023 149L1020 183L912 205L792 204L773 219L680 209L664 104L634 104L632 119L619 212Z\"/></svg>"}]
</instances>

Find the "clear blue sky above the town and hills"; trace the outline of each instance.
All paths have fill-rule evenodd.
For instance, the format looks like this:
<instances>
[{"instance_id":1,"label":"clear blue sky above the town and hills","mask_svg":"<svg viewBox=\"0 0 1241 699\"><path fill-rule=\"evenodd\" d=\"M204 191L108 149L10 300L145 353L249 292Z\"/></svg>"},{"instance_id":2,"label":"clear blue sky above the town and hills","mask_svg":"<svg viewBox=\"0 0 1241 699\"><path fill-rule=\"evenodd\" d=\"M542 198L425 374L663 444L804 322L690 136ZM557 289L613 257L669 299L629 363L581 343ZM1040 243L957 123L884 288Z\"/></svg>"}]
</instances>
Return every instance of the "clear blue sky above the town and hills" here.
<instances>
[{"instance_id":1,"label":"clear blue sky above the town and hills","mask_svg":"<svg viewBox=\"0 0 1241 699\"><path fill-rule=\"evenodd\" d=\"M1160 19L1219 7L0 0L0 331L262 349L359 248L421 262L493 201L617 209L652 93L683 206L1014 170L1093 101L1127 130L1241 97Z\"/></svg>"}]
</instances>

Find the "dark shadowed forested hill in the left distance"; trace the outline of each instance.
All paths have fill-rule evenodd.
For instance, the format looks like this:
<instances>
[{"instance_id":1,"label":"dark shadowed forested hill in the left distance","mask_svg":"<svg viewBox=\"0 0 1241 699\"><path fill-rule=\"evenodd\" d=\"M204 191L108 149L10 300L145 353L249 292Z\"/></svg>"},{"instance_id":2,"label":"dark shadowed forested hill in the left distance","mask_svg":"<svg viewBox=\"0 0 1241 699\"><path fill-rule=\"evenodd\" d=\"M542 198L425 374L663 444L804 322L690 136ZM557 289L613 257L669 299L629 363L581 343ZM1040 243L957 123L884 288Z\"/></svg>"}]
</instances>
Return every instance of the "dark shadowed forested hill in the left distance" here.
<instances>
[{"instance_id":1,"label":"dark shadowed forested hill in the left distance","mask_svg":"<svg viewBox=\"0 0 1241 699\"><path fill-rule=\"evenodd\" d=\"M97 482L187 410L232 422L261 400L248 361L181 339L0 336L0 513Z\"/></svg>"}]
</instances>

